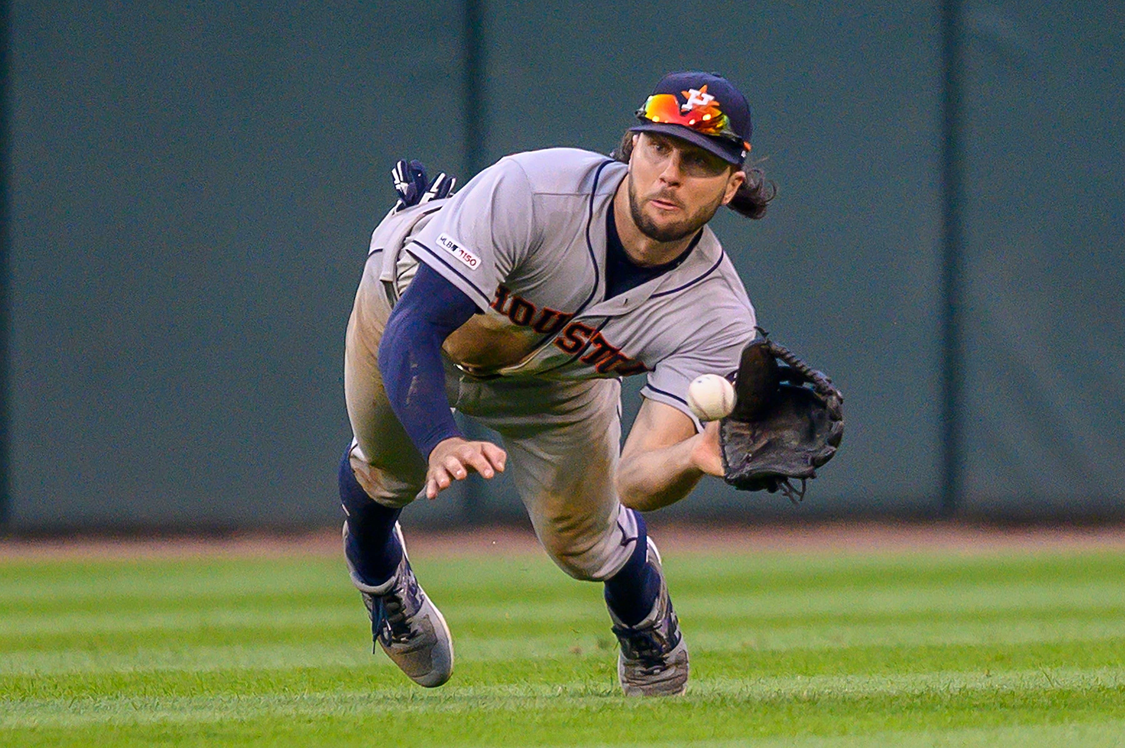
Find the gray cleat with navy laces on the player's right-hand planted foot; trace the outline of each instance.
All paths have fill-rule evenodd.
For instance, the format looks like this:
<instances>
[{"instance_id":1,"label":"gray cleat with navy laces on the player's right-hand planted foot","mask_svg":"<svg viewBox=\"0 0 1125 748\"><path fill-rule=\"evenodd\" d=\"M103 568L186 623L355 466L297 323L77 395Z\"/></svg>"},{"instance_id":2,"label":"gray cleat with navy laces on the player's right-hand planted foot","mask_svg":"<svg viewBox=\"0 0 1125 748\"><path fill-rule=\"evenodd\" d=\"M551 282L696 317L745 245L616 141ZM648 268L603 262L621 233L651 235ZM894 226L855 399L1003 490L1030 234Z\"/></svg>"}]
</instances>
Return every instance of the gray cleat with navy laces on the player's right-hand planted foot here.
<instances>
[{"instance_id":1,"label":"gray cleat with navy laces on the player's right-hand planted foot","mask_svg":"<svg viewBox=\"0 0 1125 748\"><path fill-rule=\"evenodd\" d=\"M613 633L621 645L618 679L627 696L678 696L687 688L687 645L672 609L660 553L651 540L648 541L648 562L660 575L660 593L652 612L630 627L610 611Z\"/></svg>"}]
</instances>

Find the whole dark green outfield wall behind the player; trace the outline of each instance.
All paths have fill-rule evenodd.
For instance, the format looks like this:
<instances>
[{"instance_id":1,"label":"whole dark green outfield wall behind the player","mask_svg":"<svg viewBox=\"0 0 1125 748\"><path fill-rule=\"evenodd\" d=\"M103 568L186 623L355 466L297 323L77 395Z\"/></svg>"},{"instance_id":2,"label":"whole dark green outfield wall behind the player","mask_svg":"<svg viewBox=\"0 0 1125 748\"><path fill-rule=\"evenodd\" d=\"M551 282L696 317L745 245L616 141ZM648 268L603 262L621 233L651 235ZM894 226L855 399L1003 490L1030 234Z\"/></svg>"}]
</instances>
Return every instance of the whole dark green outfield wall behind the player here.
<instances>
[{"instance_id":1,"label":"whole dark green outfield wall behind the player","mask_svg":"<svg viewBox=\"0 0 1125 748\"><path fill-rule=\"evenodd\" d=\"M609 152L688 67L750 100L780 197L716 228L848 423L800 507L710 480L664 513L937 514L952 363L962 514L1125 514L1120 6L960 7L951 362L938 2L172 4L9 3L9 530L334 523L395 159ZM408 516L521 512L471 481Z\"/></svg>"}]
</instances>

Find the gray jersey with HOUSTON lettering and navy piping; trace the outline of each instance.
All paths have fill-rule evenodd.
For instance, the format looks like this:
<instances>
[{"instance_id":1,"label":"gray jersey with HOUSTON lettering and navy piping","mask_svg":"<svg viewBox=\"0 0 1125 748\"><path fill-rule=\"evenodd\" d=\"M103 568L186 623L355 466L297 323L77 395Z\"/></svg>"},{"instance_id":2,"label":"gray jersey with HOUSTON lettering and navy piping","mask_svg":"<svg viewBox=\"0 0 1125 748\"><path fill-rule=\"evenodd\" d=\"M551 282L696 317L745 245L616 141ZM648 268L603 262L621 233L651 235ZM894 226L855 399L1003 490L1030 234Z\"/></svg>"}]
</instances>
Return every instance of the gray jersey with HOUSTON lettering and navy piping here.
<instances>
[{"instance_id":1,"label":"gray jersey with HOUSTON lettering and navy piping","mask_svg":"<svg viewBox=\"0 0 1125 748\"><path fill-rule=\"evenodd\" d=\"M588 379L648 373L645 397L685 413L687 386L737 369L754 307L710 228L675 269L605 298L606 211L623 163L576 148L502 159L446 200L385 220L380 279L403 254L471 298L486 324L524 339L519 362L478 375Z\"/></svg>"}]
</instances>

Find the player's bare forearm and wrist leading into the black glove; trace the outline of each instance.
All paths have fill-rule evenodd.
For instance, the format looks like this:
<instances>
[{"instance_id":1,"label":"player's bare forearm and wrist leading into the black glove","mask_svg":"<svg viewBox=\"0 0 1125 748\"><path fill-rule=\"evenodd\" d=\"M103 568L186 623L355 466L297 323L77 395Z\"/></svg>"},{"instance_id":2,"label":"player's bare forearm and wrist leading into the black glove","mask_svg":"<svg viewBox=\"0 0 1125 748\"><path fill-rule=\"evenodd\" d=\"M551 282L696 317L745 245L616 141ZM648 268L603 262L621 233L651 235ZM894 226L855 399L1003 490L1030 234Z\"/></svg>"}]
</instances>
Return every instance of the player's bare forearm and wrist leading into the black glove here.
<instances>
[{"instance_id":1,"label":"player's bare forearm and wrist leading into the black glove","mask_svg":"<svg viewBox=\"0 0 1125 748\"><path fill-rule=\"evenodd\" d=\"M618 495L628 507L648 511L674 504L704 475L721 476L718 422L702 433L684 413L646 399L618 466Z\"/></svg>"}]
</instances>

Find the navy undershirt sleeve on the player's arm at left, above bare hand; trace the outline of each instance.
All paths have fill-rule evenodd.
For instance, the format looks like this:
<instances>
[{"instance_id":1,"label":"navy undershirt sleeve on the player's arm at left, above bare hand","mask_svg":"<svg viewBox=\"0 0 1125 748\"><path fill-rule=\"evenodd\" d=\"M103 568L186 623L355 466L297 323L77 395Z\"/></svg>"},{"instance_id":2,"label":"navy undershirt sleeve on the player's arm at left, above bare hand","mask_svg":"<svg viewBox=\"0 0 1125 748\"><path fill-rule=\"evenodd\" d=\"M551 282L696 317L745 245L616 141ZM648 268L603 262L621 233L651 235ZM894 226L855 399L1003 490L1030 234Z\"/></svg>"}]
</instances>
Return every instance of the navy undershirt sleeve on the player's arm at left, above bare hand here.
<instances>
[{"instance_id":1,"label":"navy undershirt sleeve on the player's arm at left, above bare hand","mask_svg":"<svg viewBox=\"0 0 1125 748\"><path fill-rule=\"evenodd\" d=\"M449 411L441 344L477 306L424 262L387 319L379 342L379 372L406 434L423 459L438 442L461 436Z\"/></svg>"}]
</instances>

